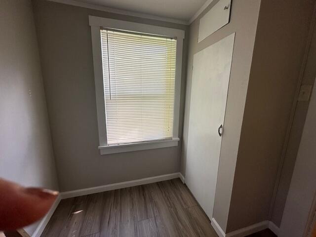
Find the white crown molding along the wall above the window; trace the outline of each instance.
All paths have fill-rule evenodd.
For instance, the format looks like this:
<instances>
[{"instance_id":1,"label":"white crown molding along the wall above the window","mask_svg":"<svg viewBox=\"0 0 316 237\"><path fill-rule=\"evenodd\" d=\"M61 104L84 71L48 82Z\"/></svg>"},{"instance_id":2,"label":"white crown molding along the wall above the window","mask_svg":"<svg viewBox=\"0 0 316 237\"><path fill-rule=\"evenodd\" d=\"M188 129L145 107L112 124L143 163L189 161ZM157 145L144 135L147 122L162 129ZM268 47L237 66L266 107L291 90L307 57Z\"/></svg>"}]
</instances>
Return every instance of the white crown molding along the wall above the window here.
<instances>
[{"instance_id":1,"label":"white crown molding along the wall above the window","mask_svg":"<svg viewBox=\"0 0 316 237\"><path fill-rule=\"evenodd\" d=\"M188 21L184 21L184 20L178 20L178 19L173 19L173 18L160 17L160 16L143 14L143 13L138 13L138 12L120 10L116 8L95 5L95 4L80 2L76 0L48 0L48 1L54 1L58 3L64 3L64 4L79 6L79 7L84 7L84 8L90 8L90 9L99 10L99 11L107 11L107 12L117 13L117 14L122 14L122 15L127 15L127 16L135 16L135 17L140 17L140 18L145 18L145 19L165 21L165 22L171 22L171 23L182 24L182 25L189 25Z\"/></svg>"}]
</instances>

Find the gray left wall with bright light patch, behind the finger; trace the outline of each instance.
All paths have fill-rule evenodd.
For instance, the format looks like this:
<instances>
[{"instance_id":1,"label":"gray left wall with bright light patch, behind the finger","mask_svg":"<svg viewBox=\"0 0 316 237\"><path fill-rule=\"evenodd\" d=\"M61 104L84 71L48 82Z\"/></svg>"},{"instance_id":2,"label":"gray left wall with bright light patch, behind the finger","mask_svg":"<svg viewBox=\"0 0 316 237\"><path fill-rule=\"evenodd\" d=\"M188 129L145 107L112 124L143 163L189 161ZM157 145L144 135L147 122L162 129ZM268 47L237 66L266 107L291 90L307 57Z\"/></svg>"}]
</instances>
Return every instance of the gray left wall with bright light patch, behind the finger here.
<instances>
[{"instance_id":1,"label":"gray left wall with bright light patch, behind the finger","mask_svg":"<svg viewBox=\"0 0 316 237\"><path fill-rule=\"evenodd\" d=\"M56 190L31 1L1 0L0 16L0 177Z\"/></svg>"}]
</instances>

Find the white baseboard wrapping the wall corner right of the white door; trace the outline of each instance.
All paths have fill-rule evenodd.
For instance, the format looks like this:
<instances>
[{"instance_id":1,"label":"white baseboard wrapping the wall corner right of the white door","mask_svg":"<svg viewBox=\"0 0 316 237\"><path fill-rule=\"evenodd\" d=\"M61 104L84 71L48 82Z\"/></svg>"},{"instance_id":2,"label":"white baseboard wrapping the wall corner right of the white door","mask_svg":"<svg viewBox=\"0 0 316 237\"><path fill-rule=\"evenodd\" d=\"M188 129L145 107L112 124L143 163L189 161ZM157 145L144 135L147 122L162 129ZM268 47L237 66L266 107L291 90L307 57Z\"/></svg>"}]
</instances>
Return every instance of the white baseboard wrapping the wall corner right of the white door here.
<instances>
[{"instance_id":1,"label":"white baseboard wrapping the wall corner right of the white door","mask_svg":"<svg viewBox=\"0 0 316 237\"><path fill-rule=\"evenodd\" d=\"M276 234L276 236L278 236L278 228L271 221L262 221L257 224L230 232L228 234L225 234L225 232L222 230L222 228L220 227L220 225L216 222L214 218L212 218L211 224L219 237L245 237L267 228L269 228L273 233Z\"/></svg>"}]
</instances>

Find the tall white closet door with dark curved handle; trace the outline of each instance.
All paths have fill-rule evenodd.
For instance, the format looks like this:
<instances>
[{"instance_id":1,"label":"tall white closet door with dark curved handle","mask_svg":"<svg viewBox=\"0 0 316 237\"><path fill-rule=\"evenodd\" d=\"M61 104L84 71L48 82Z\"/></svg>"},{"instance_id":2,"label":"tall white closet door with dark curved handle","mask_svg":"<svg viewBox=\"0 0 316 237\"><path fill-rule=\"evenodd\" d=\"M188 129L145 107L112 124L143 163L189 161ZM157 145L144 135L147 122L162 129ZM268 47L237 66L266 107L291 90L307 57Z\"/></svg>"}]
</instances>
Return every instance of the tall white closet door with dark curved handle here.
<instances>
[{"instance_id":1,"label":"tall white closet door with dark curved handle","mask_svg":"<svg viewBox=\"0 0 316 237\"><path fill-rule=\"evenodd\" d=\"M193 60L186 184L210 219L234 40L235 33L196 53ZM223 132L225 136L225 126Z\"/></svg>"}]
</instances>

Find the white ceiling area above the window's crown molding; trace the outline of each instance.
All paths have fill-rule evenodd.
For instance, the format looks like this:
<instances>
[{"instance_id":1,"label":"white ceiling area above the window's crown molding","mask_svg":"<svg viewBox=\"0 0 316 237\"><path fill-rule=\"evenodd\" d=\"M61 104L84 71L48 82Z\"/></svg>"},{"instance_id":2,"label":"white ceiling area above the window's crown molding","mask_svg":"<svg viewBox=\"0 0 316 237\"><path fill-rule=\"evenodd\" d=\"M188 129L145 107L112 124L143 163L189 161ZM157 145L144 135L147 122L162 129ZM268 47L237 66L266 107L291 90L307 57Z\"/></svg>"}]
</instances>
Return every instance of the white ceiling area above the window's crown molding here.
<instances>
[{"instance_id":1,"label":"white ceiling area above the window's crown molding","mask_svg":"<svg viewBox=\"0 0 316 237\"><path fill-rule=\"evenodd\" d=\"M77 0L135 13L188 22L207 0Z\"/></svg>"}]
</instances>

